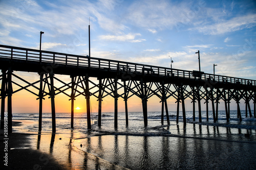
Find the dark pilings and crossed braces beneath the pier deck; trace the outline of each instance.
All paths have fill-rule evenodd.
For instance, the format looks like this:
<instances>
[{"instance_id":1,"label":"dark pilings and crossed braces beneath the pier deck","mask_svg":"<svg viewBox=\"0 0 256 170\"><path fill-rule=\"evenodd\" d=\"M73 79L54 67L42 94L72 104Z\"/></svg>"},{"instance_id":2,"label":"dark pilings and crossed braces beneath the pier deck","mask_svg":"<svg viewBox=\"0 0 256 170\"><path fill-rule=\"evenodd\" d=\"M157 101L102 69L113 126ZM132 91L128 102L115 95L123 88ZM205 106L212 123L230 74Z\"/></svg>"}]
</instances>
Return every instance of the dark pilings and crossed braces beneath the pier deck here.
<instances>
[{"instance_id":1,"label":"dark pilings and crossed braces beneath the pier deck","mask_svg":"<svg viewBox=\"0 0 256 170\"><path fill-rule=\"evenodd\" d=\"M7 96L8 98L8 124L10 132L11 132L11 113L12 113L12 94L15 93L12 90L12 83L15 83L12 81L12 75L17 78L15 74L12 74L12 69L2 69L2 86L1 86L1 128L3 128L4 124L3 122L3 114L5 111L5 98ZM56 132L56 113L55 113L55 96L58 93L64 92L65 90L70 89L71 94L66 94L70 97L71 100L71 128L74 128L74 101L75 98L78 95L84 95L86 97L86 105L87 105L87 127L88 129L92 128L91 125L91 104L90 104L90 96L94 95L96 98L98 98L98 126L101 126L101 107L102 107L102 99L104 96L111 95L114 98L114 127L118 127L118 98L121 97L124 100L124 107L125 107L125 124L126 126L129 125L128 121L128 106L127 106L127 100L132 96L136 95L141 99L142 102L142 110L143 110L143 119L144 119L144 126L147 126L147 100L153 96L157 95L161 99L161 123L164 123L164 111L166 112L166 119L167 119L167 125L169 125L169 115L168 115L168 107L167 107L167 99L170 96L173 96L177 100L177 119L176 122L178 124L179 122L179 106L180 103L182 105L182 116L183 116L183 124L186 125L186 112L185 112L185 100L187 98L190 98L193 102L193 120L196 121L196 115L195 115L195 108L196 103L198 103L198 113L199 113L199 122L202 122L202 115L201 115L201 102L202 100L205 101L206 104L206 119L208 121L208 103L211 102L212 104L212 117L214 119L214 122L218 121L218 109L219 109L219 102L223 100L224 106L225 106L225 112L226 112L226 120L229 122L230 118L230 100L234 100L237 103L237 109L238 109L238 118L242 120L241 116L241 110L240 110L240 102L245 101L245 107L246 107L246 113L247 116L250 117L255 116L255 91L253 90L241 90L241 89L224 89L224 88L216 88L216 87L203 87L200 84L193 84L193 85L184 85L184 84L172 84L172 83L166 83L165 81L162 82L149 82L147 79L140 79L139 80L121 80L122 83L120 83L120 77L113 76L111 78L98 78L98 83L92 82L89 80L89 76L74 76L71 75L71 83L68 83L62 87L65 87L65 90L60 90L60 88L57 88L54 86L54 81L58 80L56 77L54 77L53 72L50 74L39 74L40 78L39 81L36 81L34 83L28 83L27 86L20 86L21 89L26 89L29 86L34 86L34 84L39 82L39 88L35 87L37 90L39 90L39 93L36 94L39 99L39 122L38 122L38 130L41 131L42 129L42 100L44 99L44 96L49 95L51 99L51 109L52 109L52 132ZM22 80L22 79L20 79ZM49 80L49 82L48 82ZM58 80L59 81L59 80ZM24 81L25 82L25 81ZM168 82L168 81L167 81ZM45 83L45 84L44 84ZM89 88L89 83L93 84L91 88ZM81 85L78 85L81 84ZM133 84L133 86L131 85ZM15 83L17 85L17 83ZM45 91L45 86L49 87L49 92ZM152 85L154 85L152 87ZM90 85L91 86L91 85ZM80 89L83 89L83 91L79 91L80 89L77 89L77 87L80 87ZM188 88L187 88L188 87ZM96 88L97 90L92 90L93 93L90 92L92 88ZM122 93L119 93L123 89ZM109 91L106 91L108 89ZM175 89L175 91L173 91ZM202 90L204 89L204 90ZM19 91L16 90L16 91ZM28 89L27 89L28 90ZM56 91L58 90L58 91ZM120 91L119 91L120 90ZM28 90L29 91L29 90ZM31 92L31 91L30 91ZM78 93L75 95L75 93ZM106 93L103 95L103 93ZM32 92L33 93L33 92ZM129 93L132 93L129 95ZM98 94L96 96L96 94ZM210 100L210 101L209 101ZM251 101L253 101L253 107L254 112L252 113L251 110ZM216 103L216 105L215 105ZM216 106L216 107L215 107ZM164 110L165 108L165 110ZM215 110L216 109L216 110Z\"/></svg>"}]
</instances>

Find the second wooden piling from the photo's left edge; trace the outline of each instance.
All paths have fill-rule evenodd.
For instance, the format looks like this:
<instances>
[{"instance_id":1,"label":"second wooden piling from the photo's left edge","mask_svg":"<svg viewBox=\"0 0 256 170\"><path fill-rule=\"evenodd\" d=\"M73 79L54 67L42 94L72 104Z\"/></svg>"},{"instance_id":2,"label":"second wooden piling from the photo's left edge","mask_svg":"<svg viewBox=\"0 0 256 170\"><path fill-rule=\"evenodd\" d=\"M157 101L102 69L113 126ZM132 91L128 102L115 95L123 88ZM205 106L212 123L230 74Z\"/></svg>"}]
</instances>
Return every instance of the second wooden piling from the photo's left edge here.
<instances>
[{"instance_id":1,"label":"second wooden piling from the photo's left edge","mask_svg":"<svg viewBox=\"0 0 256 170\"><path fill-rule=\"evenodd\" d=\"M7 98L7 111L8 111L8 133L12 133L12 69L11 67L7 72L8 81L8 98Z\"/></svg>"}]
</instances>

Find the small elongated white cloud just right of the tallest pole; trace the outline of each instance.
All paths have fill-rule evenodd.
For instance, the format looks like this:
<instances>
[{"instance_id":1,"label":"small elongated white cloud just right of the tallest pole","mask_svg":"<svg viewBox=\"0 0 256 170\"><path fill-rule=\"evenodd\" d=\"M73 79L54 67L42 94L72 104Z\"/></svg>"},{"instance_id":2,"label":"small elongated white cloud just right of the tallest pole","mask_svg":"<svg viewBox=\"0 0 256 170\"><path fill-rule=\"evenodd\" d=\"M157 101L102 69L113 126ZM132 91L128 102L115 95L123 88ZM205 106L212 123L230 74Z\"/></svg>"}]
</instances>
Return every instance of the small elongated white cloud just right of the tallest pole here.
<instances>
[{"instance_id":1,"label":"small elongated white cloud just right of the tallest pole","mask_svg":"<svg viewBox=\"0 0 256 170\"><path fill-rule=\"evenodd\" d=\"M136 36L141 36L141 34L124 34L124 35L101 35L99 39L101 40L109 40L109 41L130 41L130 42L141 42L145 41L145 39L135 39Z\"/></svg>"}]
</instances>

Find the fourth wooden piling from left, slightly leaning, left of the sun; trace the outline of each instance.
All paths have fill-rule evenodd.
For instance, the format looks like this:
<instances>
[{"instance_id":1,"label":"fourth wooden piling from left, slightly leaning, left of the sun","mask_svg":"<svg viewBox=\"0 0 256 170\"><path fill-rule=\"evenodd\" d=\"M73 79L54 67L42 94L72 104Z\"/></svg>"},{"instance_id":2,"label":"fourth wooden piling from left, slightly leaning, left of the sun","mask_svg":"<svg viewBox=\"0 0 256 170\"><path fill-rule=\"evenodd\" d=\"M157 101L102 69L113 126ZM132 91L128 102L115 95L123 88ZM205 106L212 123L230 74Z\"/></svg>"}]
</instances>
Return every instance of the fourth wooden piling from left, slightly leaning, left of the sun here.
<instances>
[{"instance_id":1,"label":"fourth wooden piling from left, slightly leaning, left of the sun","mask_svg":"<svg viewBox=\"0 0 256 170\"><path fill-rule=\"evenodd\" d=\"M52 107L52 133L56 132L56 116L55 116L55 90L54 90L54 84L53 84L53 76L54 74L50 74L50 86L51 86L51 91L50 91L50 97L51 97L51 107Z\"/></svg>"}]
</instances>

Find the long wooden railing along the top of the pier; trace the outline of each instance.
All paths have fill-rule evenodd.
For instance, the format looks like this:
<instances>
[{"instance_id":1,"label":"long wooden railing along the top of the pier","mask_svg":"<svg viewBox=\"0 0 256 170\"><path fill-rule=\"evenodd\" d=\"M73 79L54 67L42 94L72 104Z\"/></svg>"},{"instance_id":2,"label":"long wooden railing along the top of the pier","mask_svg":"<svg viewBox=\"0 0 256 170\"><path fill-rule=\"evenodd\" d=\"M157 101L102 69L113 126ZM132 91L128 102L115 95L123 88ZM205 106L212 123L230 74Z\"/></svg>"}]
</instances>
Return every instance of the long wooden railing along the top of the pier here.
<instances>
[{"instance_id":1,"label":"long wooden railing along the top of the pier","mask_svg":"<svg viewBox=\"0 0 256 170\"><path fill-rule=\"evenodd\" d=\"M170 69L166 67L138 64L132 62L116 61L89 56L56 53L49 51L34 50L31 48L15 47L0 44L0 59L36 61L39 63L63 64L106 71L125 71L133 74L148 76L170 77L177 79L192 79L202 81L216 81L219 83L231 83L240 85L256 86L255 80L206 74L199 71Z\"/></svg>"}]
</instances>

